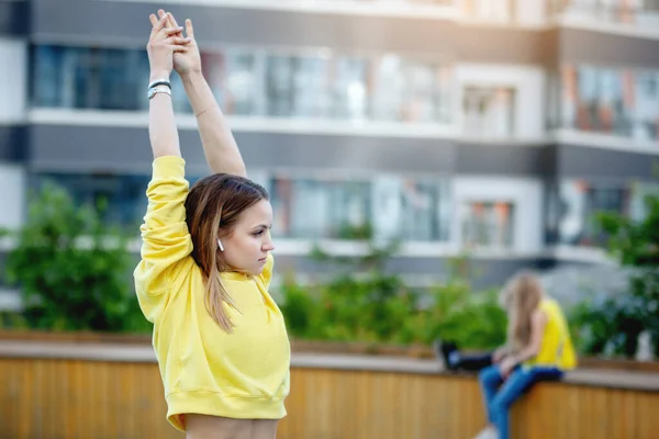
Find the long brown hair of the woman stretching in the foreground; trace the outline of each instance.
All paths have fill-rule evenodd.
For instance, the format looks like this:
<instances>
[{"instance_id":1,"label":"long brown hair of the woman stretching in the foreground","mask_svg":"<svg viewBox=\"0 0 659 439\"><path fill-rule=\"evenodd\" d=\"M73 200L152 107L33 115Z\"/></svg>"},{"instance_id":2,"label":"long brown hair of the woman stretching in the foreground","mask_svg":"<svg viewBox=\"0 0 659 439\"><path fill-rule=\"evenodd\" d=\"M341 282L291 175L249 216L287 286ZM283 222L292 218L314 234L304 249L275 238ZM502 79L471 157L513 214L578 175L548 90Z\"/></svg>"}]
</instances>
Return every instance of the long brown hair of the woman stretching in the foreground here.
<instances>
[{"instance_id":1,"label":"long brown hair of the woman stretching in the foreground","mask_svg":"<svg viewBox=\"0 0 659 439\"><path fill-rule=\"evenodd\" d=\"M186 223L192 237L192 258L201 269L206 286L206 309L227 333L233 330L233 323L224 302L234 308L236 305L220 280L220 272L231 267L220 251L217 239L233 232L246 209L268 199L268 192L259 184L228 173L215 173L198 180L186 199Z\"/></svg>"}]
</instances>

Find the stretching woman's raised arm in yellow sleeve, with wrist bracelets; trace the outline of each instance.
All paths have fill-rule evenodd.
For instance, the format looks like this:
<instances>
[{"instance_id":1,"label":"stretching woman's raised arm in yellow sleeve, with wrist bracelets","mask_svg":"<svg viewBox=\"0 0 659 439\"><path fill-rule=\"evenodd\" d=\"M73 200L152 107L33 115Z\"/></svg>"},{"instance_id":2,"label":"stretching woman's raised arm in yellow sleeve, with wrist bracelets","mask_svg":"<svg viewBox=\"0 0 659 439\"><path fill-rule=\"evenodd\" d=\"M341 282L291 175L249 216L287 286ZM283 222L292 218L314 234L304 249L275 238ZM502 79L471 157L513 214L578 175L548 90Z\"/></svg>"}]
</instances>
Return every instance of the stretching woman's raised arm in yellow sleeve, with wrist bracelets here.
<instances>
[{"instance_id":1,"label":"stretching woman's raised arm in yellow sleeve, with wrist bracelets","mask_svg":"<svg viewBox=\"0 0 659 439\"><path fill-rule=\"evenodd\" d=\"M165 29L166 20L158 21L155 15L150 20L154 25L147 45L150 80L166 81L172 69L172 54L186 49L185 41L169 36L174 30ZM153 176L146 190L146 215L139 227L142 260L133 272L139 306L149 322L158 319L167 303L171 289L169 268L192 252L185 206L189 184L168 90L165 86L149 103Z\"/></svg>"}]
</instances>

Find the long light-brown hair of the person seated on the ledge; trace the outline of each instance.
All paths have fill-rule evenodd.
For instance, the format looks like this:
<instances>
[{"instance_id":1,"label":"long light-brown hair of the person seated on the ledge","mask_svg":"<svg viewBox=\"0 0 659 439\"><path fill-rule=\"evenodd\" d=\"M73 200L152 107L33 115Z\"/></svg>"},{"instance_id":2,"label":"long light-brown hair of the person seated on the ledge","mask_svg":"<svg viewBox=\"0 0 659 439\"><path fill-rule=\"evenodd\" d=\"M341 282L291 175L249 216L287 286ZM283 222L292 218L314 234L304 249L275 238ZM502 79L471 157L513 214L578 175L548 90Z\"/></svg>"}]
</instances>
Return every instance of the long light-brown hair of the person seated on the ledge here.
<instances>
[{"instance_id":1,"label":"long light-brown hair of the person seated on the ledge","mask_svg":"<svg viewBox=\"0 0 659 439\"><path fill-rule=\"evenodd\" d=\"M543 299L543 285L538 277L523 271L511 279L500 296L509 316L507 345L514 351L530 341L530 317Z\"/></svg>"}]
</instances>

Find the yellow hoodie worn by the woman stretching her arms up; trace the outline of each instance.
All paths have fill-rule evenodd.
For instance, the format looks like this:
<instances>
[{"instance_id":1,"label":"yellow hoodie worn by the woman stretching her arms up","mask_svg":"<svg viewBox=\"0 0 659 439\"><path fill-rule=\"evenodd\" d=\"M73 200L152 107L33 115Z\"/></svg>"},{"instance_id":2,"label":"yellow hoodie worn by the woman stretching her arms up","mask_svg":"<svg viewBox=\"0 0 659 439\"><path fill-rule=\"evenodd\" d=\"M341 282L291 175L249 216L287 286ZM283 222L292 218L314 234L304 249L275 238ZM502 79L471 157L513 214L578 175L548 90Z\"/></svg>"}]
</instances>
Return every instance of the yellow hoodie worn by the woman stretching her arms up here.
<instances>
[{"instance_id":1,"label":"yellow hoodie worn by the woman stretching her arms up","mask_svg":"<svg viewBox=\"0 0 659 439\"><path fill-rule=\"evenodd\" d=\"M185 431L186 413L243 419L280 419L289 393L290 345L268 286L272 256L263 273L221 273L238 311L227 334L205 307L201 270L190 256L186 224L188 181L180 157L159 157L146 194L142 260L134 271L144 316L154 324L167 419Z\"/></svg>"}]
</instances>

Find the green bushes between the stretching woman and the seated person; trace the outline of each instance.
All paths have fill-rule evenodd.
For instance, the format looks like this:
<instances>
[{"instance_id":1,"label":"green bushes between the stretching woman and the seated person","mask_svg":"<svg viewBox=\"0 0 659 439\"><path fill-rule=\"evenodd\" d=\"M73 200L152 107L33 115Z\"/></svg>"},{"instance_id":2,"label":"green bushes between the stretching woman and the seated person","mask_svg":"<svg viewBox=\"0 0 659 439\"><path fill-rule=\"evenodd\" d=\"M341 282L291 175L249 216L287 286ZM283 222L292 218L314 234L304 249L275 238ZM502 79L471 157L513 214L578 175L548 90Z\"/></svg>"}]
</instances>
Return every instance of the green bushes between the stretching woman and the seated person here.
<instances>
[{"instance_id":1,"label":"green bushes between the stretching woman and the seated person","mask_svg":"<svg viewBox=\"0 0 659 439\"><path fill-rule=\"evenodd\" d=\"M415 291L383 262L393 247L375 249L360 259L332 258L324 263L360 267L339 271L333 280L302 288L289 279L282 288L282 313L298 338L395 345L429 345L436 338L489 349L505 340L506 317L494 291L474 292L458 275L431 291Z\"/></svg>"}]
</instances>

